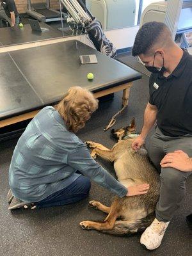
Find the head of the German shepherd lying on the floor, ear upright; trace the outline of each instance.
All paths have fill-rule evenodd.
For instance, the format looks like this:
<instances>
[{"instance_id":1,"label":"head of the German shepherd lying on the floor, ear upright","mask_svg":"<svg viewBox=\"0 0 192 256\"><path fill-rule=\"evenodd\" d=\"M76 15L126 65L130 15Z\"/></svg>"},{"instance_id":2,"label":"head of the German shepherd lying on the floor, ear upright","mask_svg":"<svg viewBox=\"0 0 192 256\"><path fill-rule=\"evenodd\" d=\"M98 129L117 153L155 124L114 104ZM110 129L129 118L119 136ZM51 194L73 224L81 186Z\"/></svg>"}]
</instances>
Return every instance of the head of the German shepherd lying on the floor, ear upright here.
<instances>
[{"instance_id":1,"label":"head of the German shepherd lying on the floor, ear upright","mask_svg":"<svg viewBox=\"0 0 192 256\"><path fill-rule=\"evenodd\" d=\"M120 128L120 129L112 129L111 135L116 140L126 140L126 138L134 138L138 136L138 133L136 133L136 124L134 118L131 120L131 124L129 124L126 127Z\"/></svg>"}]
</instances>

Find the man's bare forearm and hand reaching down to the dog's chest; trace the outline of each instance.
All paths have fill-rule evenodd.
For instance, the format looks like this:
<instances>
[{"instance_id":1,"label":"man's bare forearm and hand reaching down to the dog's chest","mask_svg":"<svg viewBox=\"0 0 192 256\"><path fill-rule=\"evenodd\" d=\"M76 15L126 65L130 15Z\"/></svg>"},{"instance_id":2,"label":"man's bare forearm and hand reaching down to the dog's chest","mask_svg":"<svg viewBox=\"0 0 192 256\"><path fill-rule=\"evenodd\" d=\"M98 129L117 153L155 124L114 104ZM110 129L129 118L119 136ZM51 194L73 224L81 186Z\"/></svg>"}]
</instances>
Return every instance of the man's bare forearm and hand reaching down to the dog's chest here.
<instances>
[{"instance_id":1,"label":"man's bare forearm and hand reaching down to the dog's chest","mask_svg":"<svg viewBox=\"0 0 192 256\"><path fill-rule=\"evenodd\" d=\"M147 107L145 108L144 122L141 134L140 136L138 136L138 138L136 138L136 140L133 141L132 149L138 150L145 143L145 138L147 137L147 134L150 131L150 129L152 129L152 127L156 123L156 119L157 107L148 102Z\"/></svg>"}]
</instances>

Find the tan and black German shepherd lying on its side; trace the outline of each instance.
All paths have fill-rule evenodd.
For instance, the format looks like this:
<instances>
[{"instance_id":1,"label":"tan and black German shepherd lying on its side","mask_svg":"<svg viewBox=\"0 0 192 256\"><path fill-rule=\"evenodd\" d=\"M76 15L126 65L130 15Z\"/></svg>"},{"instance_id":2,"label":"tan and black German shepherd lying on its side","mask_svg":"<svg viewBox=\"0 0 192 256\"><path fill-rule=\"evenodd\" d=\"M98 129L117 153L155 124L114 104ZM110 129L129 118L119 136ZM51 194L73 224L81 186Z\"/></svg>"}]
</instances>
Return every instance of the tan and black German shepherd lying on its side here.
<instances>
[{"instance_id":1,"label":"tan and black German shepherd lying on its side","mask_svg":"<svg viewBox=\"0 0 192 256\"><path fill-rule=\"evenodd\" d=\"M81 228L96 229L116 236L129 236L147 228L155 218L154 212L159 200L160 179L156 169L148 159L147 150L141 148L134 152L131 143L136 134L134 118L131 124L119 130L112 130L112 136L118 139L113 148L108 149L99 143L87 141L93 148L92 157L100 156L114 162L117 179L129 187L136 184L150 184L148 193L137 196L115 196L110 207L98 201L91 201L90 206L108 214L102 222L82 221ZM130 138L131 137L131 138Z\"/></svg>"}]
</instances>

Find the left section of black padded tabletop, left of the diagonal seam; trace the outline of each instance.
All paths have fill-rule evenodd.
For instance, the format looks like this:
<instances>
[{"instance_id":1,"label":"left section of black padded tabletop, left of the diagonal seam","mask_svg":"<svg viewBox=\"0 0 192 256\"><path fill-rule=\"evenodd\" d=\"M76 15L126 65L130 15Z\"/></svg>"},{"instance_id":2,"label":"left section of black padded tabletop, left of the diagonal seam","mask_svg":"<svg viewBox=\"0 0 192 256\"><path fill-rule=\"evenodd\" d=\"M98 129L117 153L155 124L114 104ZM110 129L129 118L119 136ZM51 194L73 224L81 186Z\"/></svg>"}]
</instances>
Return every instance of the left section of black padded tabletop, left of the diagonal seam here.
<instances>
[{"instance_id":1,"label":"left section of black padded tabletop, left of the diagonal seam","mask_svg":"<svg viewBox=\"0 0 192 256\"><path fill-rule=\"evenodd\" d=\"M33 109L43 104L7 53L0 58L0 92L0 117L12 115L15 109L22 112L26 106Z\"/></svg>"}]
</instances>

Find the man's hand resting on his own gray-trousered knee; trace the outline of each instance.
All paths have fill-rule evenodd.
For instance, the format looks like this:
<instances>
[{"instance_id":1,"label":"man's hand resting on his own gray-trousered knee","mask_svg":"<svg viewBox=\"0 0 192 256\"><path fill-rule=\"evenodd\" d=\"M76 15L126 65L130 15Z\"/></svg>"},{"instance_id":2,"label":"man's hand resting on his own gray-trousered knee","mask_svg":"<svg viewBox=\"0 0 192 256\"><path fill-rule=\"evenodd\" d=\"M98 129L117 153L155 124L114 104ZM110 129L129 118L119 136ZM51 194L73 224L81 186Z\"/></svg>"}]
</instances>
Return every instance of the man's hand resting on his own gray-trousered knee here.
<instances>
[{"instance_id":1,"label":"man's hand resting on his own gray-trousered knee","mask_svg":"<svg viewBox=\"0 0 192 256\"><path fill-rule=\"evenodd\" d=\"M192 172L192 159L182 150L168 153L161 160L161 167L172 167L181 172Z\"/></svg>"}]
</instances>

